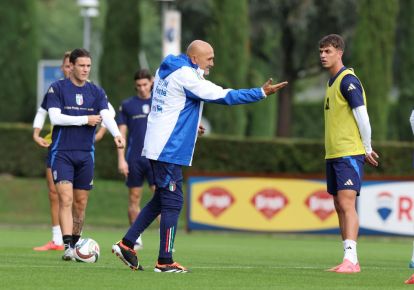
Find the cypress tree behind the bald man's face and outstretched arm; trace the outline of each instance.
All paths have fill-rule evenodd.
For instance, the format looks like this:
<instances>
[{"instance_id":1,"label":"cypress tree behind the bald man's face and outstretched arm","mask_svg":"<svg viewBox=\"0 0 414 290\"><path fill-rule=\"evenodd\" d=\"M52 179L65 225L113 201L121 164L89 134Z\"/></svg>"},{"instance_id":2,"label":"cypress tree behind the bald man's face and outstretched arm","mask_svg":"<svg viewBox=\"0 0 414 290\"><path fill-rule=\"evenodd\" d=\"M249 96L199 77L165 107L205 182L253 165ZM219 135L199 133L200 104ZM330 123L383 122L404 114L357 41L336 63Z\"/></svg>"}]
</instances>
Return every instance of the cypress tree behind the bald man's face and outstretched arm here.
<instances>
[{"instance_id":1,"label":"cypress tree behind the bald man's face and outstretched arm","mask_svg":"<svg viewBox=\"0 0 414 290\"><path fill-rule=\"evenodd\" d=\"M245 87L249 67L247 0L214 0L212 17L213 24L207 37L214 47L217 65L211 72L211 79L223 87ZM245 106L208 105L206 117L215 133L245 135Z\"/></svg>"}]
</instances>

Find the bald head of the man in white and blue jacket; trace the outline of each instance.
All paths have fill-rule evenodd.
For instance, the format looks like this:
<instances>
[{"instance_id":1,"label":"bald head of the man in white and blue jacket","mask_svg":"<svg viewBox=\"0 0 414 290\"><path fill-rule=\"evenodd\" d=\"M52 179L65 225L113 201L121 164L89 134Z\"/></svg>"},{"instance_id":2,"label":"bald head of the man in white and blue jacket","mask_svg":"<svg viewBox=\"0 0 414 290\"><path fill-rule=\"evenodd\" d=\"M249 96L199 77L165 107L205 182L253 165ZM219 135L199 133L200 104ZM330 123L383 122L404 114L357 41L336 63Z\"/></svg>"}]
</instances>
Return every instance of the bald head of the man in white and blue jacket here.
<instances>
[{"instance_id":1,"label":"bald head of the man in white and blue jacket","mask_svg":"<svg viewBox=\"0 0 414 290\"><path fill-rule=\"evenodd\" d=\"M192 63L204 70L204 75L210 73L210 68L214 66L214 50L208 42L194 40L187 47L187 55Z\"/></svg>"}]
</instances>

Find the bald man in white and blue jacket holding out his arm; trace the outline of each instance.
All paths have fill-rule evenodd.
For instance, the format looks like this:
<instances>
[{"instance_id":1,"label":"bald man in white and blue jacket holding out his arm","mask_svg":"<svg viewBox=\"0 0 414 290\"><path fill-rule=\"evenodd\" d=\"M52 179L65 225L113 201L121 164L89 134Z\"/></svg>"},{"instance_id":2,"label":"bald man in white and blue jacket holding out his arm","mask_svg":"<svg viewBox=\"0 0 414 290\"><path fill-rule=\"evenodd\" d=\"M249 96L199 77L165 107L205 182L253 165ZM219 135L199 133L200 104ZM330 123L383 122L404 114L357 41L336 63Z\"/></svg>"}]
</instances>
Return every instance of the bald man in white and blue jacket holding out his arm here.
<instances>
[{"instance_id":1,"label":"bald man in white and blue jacket holding out his arm","mask_svg":"<svg viewBox=\"0 0 414 290\"><path fill-rule=\"evenodd\" d=\"M112 246L132 270L141 269L133 250L137 237L161 214L160 248L155 272L189 270L172 259L177 221L183 206L182 166L191 166L204 102L222 105L260 101L287 85L269 79L253 89L223 89L205 80L214 66L214 50L193 41L186 55L167 56L158 69L142 155L150 159L156 191L124 238Z\"/></svg>"}]
</instances>

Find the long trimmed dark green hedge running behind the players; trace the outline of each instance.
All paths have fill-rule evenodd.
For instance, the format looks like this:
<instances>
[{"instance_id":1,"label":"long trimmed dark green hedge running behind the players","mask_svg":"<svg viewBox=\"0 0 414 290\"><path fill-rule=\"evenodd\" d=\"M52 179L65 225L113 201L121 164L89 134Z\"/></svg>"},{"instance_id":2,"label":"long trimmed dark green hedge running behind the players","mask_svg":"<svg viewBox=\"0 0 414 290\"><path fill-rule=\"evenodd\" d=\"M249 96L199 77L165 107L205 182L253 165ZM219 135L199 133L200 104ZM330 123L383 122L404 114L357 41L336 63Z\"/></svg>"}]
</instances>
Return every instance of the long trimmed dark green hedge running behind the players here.
<instances>
[{"instance_id":1,"label":"long trimmed dark green hedge running behind the players","mask_svg":"<svg viewBox=\"0 0 414 290\"><path fill-rule=\"evenodd\" d=\"M29 125L0 126L0 173L37 177L44 175L46 150L32 140ZM367 168L370 175L411 176L414 143L374 142L380 154L378 169ZM202 137L197 142L193 166L188 171L207 173L323 174L322 140L240 139ZM96 177L121 179L112 137L107 134L96 145Z\"/></svg>"}]
</instances>

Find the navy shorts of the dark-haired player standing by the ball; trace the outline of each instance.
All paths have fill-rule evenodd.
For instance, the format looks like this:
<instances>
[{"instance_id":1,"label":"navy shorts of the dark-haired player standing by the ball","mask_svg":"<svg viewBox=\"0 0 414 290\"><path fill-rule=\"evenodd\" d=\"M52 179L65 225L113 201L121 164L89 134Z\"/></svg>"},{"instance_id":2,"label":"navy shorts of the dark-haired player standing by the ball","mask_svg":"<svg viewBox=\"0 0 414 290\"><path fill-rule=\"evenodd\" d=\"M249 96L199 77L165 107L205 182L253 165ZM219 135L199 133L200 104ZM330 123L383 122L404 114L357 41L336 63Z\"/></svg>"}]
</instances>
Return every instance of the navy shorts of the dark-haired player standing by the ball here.
<instances>
[{"instance_id":1,"label":"navy shorts of the dark-haired player standing by the ball","mask_svg":"<svg viewBox=\"0 0 414 290\"><path fill-rule=\"evenodd\" d=\"M88 151L54 151L51 154L53 181L67 180L74 189L91 190L94 155Z\"/></svg>"}]
</instances>

